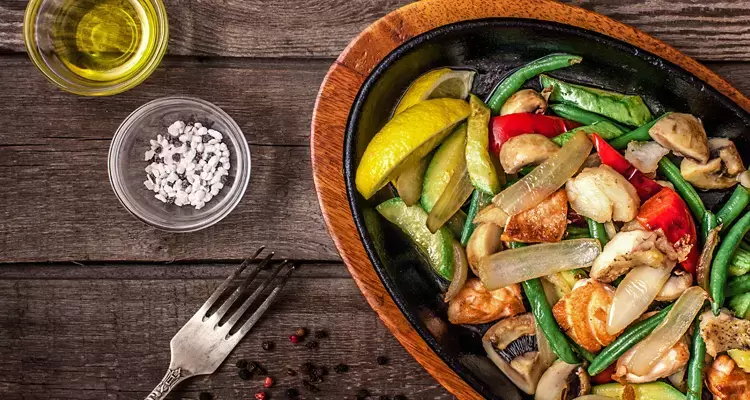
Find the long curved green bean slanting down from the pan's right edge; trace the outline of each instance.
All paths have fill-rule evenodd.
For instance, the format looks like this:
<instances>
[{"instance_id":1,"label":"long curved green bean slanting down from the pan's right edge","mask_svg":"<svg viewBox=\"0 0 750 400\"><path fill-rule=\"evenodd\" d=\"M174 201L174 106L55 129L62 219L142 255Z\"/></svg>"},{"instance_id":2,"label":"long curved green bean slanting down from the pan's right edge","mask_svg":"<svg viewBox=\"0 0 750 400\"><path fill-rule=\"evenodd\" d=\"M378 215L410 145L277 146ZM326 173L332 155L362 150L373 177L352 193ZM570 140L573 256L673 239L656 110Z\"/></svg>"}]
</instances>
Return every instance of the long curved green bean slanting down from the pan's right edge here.
<instances>
[{"instance_id":1,"label":"long curved green bean slanting down from the pan's right edge","mask_svg":"<svg viewBox=\"0 0 750 400\"><path fill-rule=\"evenodd\" d=\"M719 250L716 252L713 265L711 265L711 280L709 286L709 294L711 295L711 298L714 299L713 303L711 303L711 310L713 310L714 315L719 315L719 310L721 310L721 306L724 305L724 285L727 282L729 264L734 257L734 253L737 251L737 247L740 245L740 241L748 230L750 230L750 213L743 215L742 218L732 226L727 233L727 236L719 245Z\"/></svg>"}]
</instances>

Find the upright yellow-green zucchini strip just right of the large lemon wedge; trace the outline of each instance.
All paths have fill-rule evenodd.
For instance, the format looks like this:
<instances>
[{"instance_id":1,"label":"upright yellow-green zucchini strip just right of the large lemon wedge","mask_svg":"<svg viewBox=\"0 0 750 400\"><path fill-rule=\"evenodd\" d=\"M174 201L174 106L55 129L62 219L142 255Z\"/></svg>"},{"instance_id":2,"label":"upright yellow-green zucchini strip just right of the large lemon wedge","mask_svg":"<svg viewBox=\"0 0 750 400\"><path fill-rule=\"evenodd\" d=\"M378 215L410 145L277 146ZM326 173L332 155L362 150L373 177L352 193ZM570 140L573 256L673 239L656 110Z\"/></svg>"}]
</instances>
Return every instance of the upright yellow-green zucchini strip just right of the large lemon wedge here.
<instances>
[{"instance_id":1,"label":"upright yellow-green zucchini strip just right of the large lemon wedge","mask_svg":"<svg viewBox=\"0 0 750 400\"><path fill-rule=\"evenodd\" d=\"M471 184L477 190L494 195L500 191L500 180L489 153L490 109L473 94L469 98L469 106L471 115L467 123L466 168Z\"/></svg>"}]
</instances>

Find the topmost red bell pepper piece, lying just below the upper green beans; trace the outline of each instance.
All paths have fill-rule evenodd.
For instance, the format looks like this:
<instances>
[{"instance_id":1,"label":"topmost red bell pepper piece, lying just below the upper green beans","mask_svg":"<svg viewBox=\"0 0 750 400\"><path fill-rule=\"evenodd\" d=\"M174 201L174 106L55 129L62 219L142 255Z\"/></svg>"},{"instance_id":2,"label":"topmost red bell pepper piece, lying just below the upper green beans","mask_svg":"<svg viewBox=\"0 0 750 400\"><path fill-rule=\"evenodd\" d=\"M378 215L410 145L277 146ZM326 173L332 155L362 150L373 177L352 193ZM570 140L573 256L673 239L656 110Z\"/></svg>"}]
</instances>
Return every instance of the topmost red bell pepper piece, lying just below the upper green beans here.
<instances>
[{"instance_id":1,"label":"topmost red bell pepper piece, lying just below the upper green beans","mask_svg":"<svg viewBox=\"0 0 750 400\"><path fill-rule=\"evenodd\" d=\"M581 124L549 115L518 113L494 117L491 126L490 149L500 154L500 147L512 137L524 133L538 133L553 138Z\"/></svg>"}]
</instances>

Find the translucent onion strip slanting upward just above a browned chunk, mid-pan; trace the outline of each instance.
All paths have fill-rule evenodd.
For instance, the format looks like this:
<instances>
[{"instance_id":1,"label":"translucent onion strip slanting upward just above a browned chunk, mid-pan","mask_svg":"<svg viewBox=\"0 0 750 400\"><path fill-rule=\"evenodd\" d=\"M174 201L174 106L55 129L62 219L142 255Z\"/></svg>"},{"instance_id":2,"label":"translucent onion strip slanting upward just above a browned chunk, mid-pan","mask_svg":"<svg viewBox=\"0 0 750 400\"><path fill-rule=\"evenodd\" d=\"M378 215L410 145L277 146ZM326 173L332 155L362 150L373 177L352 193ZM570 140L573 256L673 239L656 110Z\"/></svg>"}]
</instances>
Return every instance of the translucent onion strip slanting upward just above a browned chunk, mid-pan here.
<instances>
[{"instance_id":1,"label":"translucent onion strip slanting upward just above a browned chunk, mid-pan","mask_svg":"<svg viewBox=\"0 0 750 400\"><path fill-rule=\"evenodd\" d=\"M535 207L578 172L592 147L585 133L575 133L557 153L500 192L492 202L509 215Z\"/></svg>"}]
</instances>

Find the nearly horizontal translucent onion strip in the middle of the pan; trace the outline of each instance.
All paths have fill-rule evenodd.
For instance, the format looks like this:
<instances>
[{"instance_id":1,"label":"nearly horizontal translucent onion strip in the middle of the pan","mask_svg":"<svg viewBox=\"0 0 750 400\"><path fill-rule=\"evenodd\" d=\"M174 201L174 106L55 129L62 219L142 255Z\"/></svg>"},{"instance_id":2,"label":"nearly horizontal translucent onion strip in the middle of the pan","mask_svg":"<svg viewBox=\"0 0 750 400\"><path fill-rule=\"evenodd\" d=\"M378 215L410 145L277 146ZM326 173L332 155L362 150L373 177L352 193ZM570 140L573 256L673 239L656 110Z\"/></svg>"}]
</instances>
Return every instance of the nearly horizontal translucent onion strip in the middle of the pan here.
<instances>
[{"instance_id":1,"label":"nearly horizontal translucent onion strip in the middle of the pan","mask_svg":"<svg viewBox=\"0 0 750 400\"><path fill-rule=\"evenodd\" d=\"M537 244L482 257L477 272L487 290L495 290L557 272L590 267L601 251L596 239Z\"/></svg>"}]
</instances>

